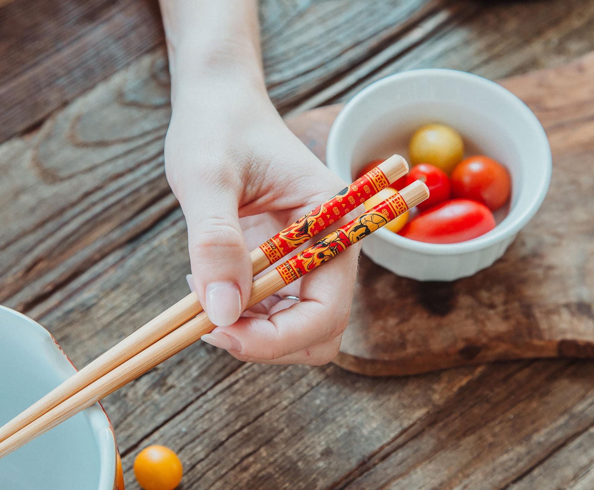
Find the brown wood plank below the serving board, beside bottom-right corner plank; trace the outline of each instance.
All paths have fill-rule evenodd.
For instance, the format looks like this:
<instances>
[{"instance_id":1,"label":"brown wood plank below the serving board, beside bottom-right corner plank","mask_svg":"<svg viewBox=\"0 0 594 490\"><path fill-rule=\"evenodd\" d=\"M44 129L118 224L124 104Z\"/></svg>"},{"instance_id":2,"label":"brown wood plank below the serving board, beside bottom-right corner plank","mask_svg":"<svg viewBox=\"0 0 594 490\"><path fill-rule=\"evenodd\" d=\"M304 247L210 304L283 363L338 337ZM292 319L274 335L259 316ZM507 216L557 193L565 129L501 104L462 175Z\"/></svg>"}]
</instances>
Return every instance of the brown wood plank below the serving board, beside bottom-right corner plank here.
<instances>
[{"instance_id":1,"label":"brown wood plank below the serving board, beside bottom-right corner plank","mask_svg":"<svg viewBox=\"0 0 594 490\"><path fill-rule=\"evenodd\" d=\"M494 369L494 372L497 368ZM334 488L505 488L592 425L591 364L536 362L448 404ZM333 488L333 487L330 487ZM565 488L543 482L532 488Z\"/></svg>"}]
</instances>

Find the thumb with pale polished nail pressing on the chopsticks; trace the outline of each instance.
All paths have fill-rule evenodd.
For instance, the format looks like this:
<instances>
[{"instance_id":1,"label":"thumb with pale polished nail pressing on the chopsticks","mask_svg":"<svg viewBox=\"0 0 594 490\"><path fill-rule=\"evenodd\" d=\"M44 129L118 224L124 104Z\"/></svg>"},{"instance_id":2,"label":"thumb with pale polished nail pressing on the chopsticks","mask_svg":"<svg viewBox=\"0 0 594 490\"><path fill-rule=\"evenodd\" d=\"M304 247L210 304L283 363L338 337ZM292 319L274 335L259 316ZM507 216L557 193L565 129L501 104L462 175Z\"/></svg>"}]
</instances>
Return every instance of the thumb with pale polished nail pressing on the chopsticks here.
<instances>
[{"instance_id":1,"label":"thumb with pale polished nail pressing on the chopsticks","mask_svg":"<svg viewBox=\"0 0 594 490\"><path fill-rule=\"evenodd\" d=\"M217 326L235 323L247 306L252 263L232 192L201 190L182 205L194 289Z\"/></svg>"}]
</instances>

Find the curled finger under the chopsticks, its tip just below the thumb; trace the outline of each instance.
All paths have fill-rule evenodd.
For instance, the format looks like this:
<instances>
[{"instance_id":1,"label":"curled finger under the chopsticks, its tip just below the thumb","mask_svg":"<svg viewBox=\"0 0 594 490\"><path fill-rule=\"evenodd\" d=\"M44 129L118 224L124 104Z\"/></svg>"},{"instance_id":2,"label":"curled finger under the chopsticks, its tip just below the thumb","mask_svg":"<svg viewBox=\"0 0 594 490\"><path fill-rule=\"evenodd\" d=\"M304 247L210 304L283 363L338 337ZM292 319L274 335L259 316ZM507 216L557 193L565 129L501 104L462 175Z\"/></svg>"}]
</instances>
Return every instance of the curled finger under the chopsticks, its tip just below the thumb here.
<instances>
[{"instance_id":1,"label":"curled finger under the chopsticks, its tip just below the thumb","mask_svg":"<svg viewBox=\"0 0 594 490\"><path fill-rule=\"evenodd\" d=\"M242 317L203 340L239 357L274 361L339 337L349 316L357 254L356 247L345 250L304 276L299 303L267 320Z\"/></svg>"}]
</instances>

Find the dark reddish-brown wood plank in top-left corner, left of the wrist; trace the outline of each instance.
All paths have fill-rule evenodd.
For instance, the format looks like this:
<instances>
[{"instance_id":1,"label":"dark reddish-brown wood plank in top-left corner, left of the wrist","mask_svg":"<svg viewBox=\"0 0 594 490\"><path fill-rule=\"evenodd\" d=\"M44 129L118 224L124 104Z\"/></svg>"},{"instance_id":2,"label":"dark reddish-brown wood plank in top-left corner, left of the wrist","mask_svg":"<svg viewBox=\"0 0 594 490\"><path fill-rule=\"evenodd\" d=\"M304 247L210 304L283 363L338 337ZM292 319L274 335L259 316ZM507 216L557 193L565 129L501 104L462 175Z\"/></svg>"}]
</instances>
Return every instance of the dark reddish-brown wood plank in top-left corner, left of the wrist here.
<instances>
[{"instance_id":1,"label":"dark reddish-brown wood plank in top-left corner, left of the wrist","mask_svg":"<svg viewBox=\"0 0 594 490\"><path fill-rule=\"evenodd\" d=\"M156 0L30 0L0 8L0 142L162 41Z\"/></svg>"}]
</instances>

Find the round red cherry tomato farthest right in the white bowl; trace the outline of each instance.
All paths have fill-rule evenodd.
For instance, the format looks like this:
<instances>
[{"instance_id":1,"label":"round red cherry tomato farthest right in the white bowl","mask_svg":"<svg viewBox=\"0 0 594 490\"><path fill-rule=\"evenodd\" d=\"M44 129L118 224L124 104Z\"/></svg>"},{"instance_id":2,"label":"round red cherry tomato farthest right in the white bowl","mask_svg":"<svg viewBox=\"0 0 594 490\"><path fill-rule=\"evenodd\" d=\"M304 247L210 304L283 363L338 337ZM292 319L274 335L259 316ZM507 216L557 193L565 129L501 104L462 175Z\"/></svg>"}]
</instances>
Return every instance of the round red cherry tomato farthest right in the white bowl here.
<instances>
[{"instance_id":1,"label":"round red cherry tomato farthest right in the white bowl","mask_svg":"<svg viewBox=\"0 0 594 490\"><path fill-rule=\"evenodd\" d=\"M510 174L497 160L476 155L461 161L451 174L455 198L482 202L491 211L501 208L510 197Z\"/></svg>"}]
</instances>

